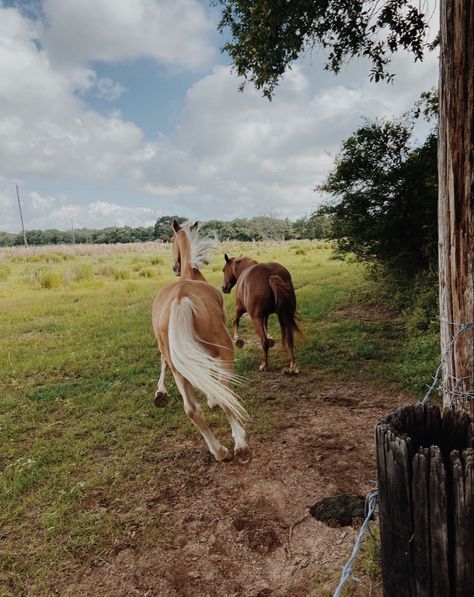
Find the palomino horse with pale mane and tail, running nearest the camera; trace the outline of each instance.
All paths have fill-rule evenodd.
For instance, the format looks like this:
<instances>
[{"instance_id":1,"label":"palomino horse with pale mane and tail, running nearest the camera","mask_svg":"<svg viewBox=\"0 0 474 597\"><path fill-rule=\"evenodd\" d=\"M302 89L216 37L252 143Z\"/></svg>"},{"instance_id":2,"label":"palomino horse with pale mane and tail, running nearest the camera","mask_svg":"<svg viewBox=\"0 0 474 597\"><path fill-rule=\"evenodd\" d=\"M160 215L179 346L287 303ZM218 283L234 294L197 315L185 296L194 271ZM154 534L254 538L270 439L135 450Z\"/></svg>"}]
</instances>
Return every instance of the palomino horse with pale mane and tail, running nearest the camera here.
<instances>
[{"instance_id":1,"label":"palomino horse with pale mane and tail, running nearest the camera","mask_svg":"<svg viewBox=\"0 0 474 597\"><path fill-rule=\"evenodd\" d=\"M218 461L230 458L209 429L196 401L193 386L207 396L211 408L220 406L227 415L234 438L234 456L240 463L251 459L243 421L248 415L230 389L234 347L225 326L222 296L208 284L199 268L207 264L213 241L199 239L197 222L180 226L173 221L173 271L181 280L164 288L153 302L153 331L161 351L161 373L155 404L166 401L165 372L173 372L183 398L184 410L202 433Z\"/></svg>"}]
</instances>

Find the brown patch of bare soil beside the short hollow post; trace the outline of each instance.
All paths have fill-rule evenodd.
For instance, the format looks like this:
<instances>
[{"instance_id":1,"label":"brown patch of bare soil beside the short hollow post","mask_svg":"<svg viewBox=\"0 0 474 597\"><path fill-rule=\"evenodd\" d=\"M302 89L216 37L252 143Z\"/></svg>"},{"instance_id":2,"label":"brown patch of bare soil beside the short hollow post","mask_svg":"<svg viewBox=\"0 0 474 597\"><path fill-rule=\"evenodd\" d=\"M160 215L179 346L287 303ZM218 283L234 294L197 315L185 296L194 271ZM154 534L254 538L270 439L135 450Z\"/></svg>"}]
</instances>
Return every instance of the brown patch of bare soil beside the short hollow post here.
<instances>
[{"instance_id":1,"label":"brown patch of bare soil beside the short hollow post","mask_svg":"<svg viewBox=\"0 0 474 597\"><path fill-rule=\"evenodd\" d=\"M197 435L157 446L169 467L153 493L130 496L167 532L153 547L97 557L61 595L298 597L331 594L357 528L309 515L318 500L365 495L375 479L373 427L403 396L366 383L334 384L315 373L265 373L257 391L280 421L270 439L252 433L247 466L213 461ZM280 398L290 396L283 410ZM183 415L184 416L184 415ZM176 457L178 454L178 457ZM367 595L367 585L353 595ZM372 589L373 596L380 588Z\"/></svg>"}]
</instances>

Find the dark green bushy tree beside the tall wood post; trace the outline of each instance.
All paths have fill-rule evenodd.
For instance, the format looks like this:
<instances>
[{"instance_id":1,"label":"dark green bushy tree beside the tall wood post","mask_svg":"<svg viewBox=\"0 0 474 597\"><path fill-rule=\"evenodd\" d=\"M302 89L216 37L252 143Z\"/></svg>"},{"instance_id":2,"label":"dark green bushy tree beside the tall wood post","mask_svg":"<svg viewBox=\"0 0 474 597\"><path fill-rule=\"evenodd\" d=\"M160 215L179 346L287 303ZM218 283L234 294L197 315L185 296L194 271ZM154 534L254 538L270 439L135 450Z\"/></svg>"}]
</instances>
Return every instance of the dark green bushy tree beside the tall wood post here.
<instances>
[{"instance_id":1,"label":"dark green bushy tree beside the tall wood post","mask_svg":"<svg viewBox=\"0 0 474 597\"><path fill-rule=\"evenodd\" d=\"M320 187L333 201L329 236L342 253L382 266L405 284L437 267L437 142L411 145L412 124L374 122L344 143Z\"/></svg>"}]
</instances>

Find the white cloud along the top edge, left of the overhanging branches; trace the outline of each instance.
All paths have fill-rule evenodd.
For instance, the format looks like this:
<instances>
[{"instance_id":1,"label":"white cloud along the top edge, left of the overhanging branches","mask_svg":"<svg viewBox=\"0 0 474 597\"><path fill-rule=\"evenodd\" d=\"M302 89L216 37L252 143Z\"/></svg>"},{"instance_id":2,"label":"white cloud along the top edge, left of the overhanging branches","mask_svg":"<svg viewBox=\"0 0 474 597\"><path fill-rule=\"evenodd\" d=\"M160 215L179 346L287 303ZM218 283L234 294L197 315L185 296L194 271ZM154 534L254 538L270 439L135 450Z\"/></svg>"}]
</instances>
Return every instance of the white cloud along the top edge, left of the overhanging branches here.
<instances>
[{"instance_id":1,"label":"white cloud along the top edge, left of the overhanging branches","mask_svg":"<svg viewBox=\"0 0 474 597\"><path fill-rule=\"evenodd\" d=\"M197 0L45 0L45 46L55 62L130 60L208 65L215 24Z\"/></svg>"}]
</instances>

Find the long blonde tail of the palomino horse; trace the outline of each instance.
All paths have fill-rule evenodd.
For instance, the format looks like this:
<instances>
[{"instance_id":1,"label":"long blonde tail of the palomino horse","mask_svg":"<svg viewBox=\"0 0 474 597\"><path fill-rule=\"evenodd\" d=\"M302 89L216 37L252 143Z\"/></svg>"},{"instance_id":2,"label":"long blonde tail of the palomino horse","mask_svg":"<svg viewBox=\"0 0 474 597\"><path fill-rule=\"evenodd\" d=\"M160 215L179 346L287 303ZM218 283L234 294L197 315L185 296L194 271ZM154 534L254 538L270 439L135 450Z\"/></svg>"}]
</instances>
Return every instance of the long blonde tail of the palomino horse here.
<instances>
[{"instance_id":1,"label":"long blonde tail of the palomino horse","mask_svg":"<svg viewBox=\"0 0 474 597\"><path fill-rule=\"evenodd\" d=\"M222 383L222 380L236 381L237 377L198 342L194 330L195 310L189 297L174 299L171 303L168 325L171 362L190 384L243 422L249 418L247 411L237 394Z\"/></svg>"}]
</instances>

